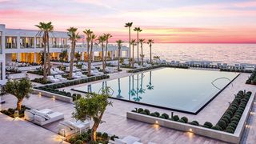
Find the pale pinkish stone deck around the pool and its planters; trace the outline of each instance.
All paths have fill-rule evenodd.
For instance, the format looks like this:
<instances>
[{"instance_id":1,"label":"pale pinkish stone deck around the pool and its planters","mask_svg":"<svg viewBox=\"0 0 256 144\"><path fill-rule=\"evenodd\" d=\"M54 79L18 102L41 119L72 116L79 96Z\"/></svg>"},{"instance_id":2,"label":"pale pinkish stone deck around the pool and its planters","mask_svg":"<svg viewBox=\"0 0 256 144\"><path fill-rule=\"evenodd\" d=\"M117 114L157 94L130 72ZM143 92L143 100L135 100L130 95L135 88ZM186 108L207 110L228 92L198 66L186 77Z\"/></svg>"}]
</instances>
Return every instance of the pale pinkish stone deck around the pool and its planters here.
<instances>
[{"instance_id":1,"label":"pale pinkish stone deck around the pool and its planters","mask_svg":"<svg viewBox=\"0 0 256 144\"><path fill-rule=\"evenodd\" d=\"M126 76L126 73L115 74L114 77ZM199 114L183 114L175 112L181 116L186 116L190 120L198 120L198 122L203 123L206 121L216 123L218 119L222 116L226 108L229 106L228 102L231 102L234 98L234 94L237 94L238 90L250 90L253 93L256 92L256 86L244 84L246 78L249 74L241 74L238 78L232 82L233 85L227 86L217 98L214 98L210 104L208 104ZM90 83L87 83L90 84ZM80 85L84 86L84 84ZM65 90L70 90L70 87L65 88ZM6 100L4 107L14 107L15 98L13 96L6 95L3 99ZM143 107L152 111L160 111L161 113L166 112L170 114L170 110L162 110L149 106L140 106L138 104L130 102L121 102L118 100L111 99L113 107L108 107L106 113L103 116L102 125L99 126L99 131L105 131L110 134L116 134L120 137L126 135L133 135L142 139L143 143L156 142L161 144L170 143L225 143L212 138L205 138L192 133L184 133L178 130L171 130L162 126L150 125L144 122L137 122L126 118L126 111L133 110L134 107ZM32 106L37 109L50 108L65 114L65 119L72 119L71 114L74 111L74 105L66 102L54 101L50 98L39 97L38 95L32 94L30 99L24 100L24 104L27 106ZM255 107L255 106L254 106ZM255 126L256 118L253 119L254 125L250 126L248 130L248 138L246 138L245 143L255 143ZM45 126L53 132L57 132L58 122Z\"/></svg>"}]
</instances>

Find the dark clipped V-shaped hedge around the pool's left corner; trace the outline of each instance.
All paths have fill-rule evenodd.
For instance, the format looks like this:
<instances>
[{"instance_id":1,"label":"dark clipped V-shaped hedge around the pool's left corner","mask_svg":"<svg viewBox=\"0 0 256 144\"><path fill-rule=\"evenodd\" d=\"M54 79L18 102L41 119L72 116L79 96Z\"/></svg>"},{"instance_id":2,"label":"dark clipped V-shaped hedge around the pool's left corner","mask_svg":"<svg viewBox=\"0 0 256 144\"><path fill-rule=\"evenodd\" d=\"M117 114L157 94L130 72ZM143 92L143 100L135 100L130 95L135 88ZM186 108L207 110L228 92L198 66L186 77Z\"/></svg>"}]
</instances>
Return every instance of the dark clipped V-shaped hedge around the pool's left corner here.
<instances>
[{"instance_id":1,"label":"dark clipped V-shaped hedge around the pool's left corner","mask_svg":"<svg viewBox=\"0 0 256 144\"><path fill-rule=\"evenodd\" d=\"M78 79L78 80L70 81L70 82L62 82L62 83L56 83L56 84L52 84L52 85L38 86L38 87L34 87L34 88L38 89L38 90L44 90L44 91L54 93L54 94L60 94L60 95L66 96L66 97L71 97L71 98L73 98L73 100L76 100L77 97L79 97L79 98L81 97L80 94L71 95L70 92L66 92L65 90L58 90L58 89L66 87L66 86L75 86L75 85L86 83L86 82L94 82L94 81L98 81L98 80L106 79L106 78L110 78L110 76L109 75L101 75L101 76L96 76L96 77Z\"/></svg>"}]
</instances>

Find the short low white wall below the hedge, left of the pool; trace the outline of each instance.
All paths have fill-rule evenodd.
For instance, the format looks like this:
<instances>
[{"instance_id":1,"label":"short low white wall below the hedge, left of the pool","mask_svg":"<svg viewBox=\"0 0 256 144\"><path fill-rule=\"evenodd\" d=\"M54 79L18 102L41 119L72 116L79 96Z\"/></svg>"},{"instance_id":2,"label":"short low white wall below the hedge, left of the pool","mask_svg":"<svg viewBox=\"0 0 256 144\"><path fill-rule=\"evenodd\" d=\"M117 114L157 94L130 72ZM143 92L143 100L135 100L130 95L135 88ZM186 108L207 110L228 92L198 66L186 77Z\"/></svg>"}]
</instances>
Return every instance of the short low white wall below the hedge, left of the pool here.
<instances>
[{"instance_id":1,"label":"short low white wall below the hedge, left of the pool","mask_svg":"<svg viewBox=\"0 0 256 144\"><path fill-rule=\"evenodd\" d=\"M46 92L46 91L43 91L43 90L33 89L33 94L41 94L44 97L55 98L55 99L63 101L63 102L73 103L73 98L66 97L66 96L63 96L63 95L60 95L60 94L54 94L54 93Z\"/></svg>"}]
</instances>

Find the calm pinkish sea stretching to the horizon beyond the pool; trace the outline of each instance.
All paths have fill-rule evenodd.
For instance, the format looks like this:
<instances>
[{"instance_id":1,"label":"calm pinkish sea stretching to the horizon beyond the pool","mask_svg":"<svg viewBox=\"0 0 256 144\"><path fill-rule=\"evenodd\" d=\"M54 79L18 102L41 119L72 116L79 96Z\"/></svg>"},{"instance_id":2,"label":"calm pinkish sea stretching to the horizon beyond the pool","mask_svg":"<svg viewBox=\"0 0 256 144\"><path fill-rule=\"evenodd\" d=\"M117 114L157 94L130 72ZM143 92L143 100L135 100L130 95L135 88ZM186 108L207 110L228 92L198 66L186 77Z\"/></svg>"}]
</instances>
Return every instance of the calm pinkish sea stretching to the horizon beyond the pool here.
<instances>
[{"instance_id":1,"label":"calm pinkish sea stretching to the horizon beyond the pool","mask_svg":"<svg viewBox=\"0 0 256 144\"><path fill-rule=\"evenodd\" d=\"M141 54L140 45L139 54ZM146 43L143 45L143 54L146 59L150 58L150 48ZM152 58L153 56L159 56L167 62L210 61L256 64L256 44L153 43ZM134 46L134 58L137 58L137 46Z\"/></svg>"}]
</instances>

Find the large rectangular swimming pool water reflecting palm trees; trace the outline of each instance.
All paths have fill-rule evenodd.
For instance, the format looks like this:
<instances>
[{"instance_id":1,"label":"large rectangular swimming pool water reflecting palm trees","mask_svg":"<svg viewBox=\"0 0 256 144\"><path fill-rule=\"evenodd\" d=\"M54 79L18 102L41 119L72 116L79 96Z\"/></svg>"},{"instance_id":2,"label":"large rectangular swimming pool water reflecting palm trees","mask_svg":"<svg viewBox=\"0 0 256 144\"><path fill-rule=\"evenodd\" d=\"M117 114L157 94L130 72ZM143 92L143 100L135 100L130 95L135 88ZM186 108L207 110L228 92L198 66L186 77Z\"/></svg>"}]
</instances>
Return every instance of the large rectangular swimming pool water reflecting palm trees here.
<instances>
[{"instance_id":1,"label":"large rectangular swimming pool water reflecting palm trees","mask_svg":"<svg viewBox=\"0 0 256 144\"><path fill-rule=\"evenodd\" d=\"M237 76L230 72L163 68L74 90L100 93L102 87L110 86L111 98L198 114Z\"/></svg>"}]
</instances>

